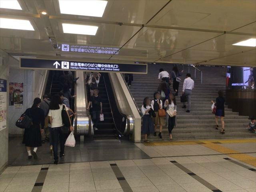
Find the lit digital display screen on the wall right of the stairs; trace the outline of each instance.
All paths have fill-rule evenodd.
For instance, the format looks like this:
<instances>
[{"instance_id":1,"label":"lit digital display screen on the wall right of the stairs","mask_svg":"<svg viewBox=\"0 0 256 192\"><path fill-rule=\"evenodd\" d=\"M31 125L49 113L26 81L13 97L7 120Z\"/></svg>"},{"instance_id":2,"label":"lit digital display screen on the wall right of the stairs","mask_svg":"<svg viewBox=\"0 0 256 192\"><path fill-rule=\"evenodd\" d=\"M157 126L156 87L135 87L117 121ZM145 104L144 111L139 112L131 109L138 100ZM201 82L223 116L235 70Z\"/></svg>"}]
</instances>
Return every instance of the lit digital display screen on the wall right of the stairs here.
<instances>
[{"instance_id":1,"label":"lit digital display screen on the wall right of the stairs","mask_svg":"<svg viewBox=\"0 0 256 192\"><path fill-rule=\"evenodd\" d=\"M228 66L226 86L232 89L256 89L256 67Z\"/></svg>"}]
</instances>

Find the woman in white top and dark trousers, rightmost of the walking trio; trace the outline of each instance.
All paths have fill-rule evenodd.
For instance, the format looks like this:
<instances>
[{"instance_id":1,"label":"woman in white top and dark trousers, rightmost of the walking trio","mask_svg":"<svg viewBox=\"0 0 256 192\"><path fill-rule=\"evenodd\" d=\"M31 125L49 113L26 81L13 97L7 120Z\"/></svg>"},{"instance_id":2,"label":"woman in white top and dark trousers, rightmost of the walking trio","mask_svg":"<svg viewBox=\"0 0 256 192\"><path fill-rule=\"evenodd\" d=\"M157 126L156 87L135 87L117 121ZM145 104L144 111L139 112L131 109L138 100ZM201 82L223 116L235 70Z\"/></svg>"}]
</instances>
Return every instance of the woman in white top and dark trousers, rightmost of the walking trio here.
<instances>
[{"instance_id":1,"label":"woman in white top and dark trousers, rightmost of the walking trio","mask_svg":"<svg viewBox=\"0 0 256 192\"><path fill-rule=\"evenodd\" d=\"M164 102L164 108L166 108L166 113L169 115L168 118L168 131L169 131L169 138L172 139L172 129L175 126L175 117L177 114L177 105L176 105L176 98L174 94L170 93L169 98Z\"/></svg>"}]
</instances>

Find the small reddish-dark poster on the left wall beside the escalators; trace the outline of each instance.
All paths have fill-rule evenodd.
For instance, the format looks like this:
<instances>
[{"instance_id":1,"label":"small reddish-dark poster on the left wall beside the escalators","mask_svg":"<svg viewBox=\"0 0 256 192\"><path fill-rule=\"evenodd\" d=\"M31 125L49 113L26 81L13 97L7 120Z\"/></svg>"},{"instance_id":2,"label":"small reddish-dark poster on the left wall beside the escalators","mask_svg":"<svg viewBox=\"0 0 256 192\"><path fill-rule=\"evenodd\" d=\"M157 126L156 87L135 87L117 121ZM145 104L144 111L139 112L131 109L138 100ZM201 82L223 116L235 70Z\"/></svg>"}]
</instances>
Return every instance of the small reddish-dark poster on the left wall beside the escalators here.
<instances>
[{"instance_id":1,"label":"small reddish-dark poster on the left wall beside the escalators","mask_svg":"<svg viewBox=\"0 0 256 192\"><path fill-rule=\"evenodd\" d=\"M23 105L23 83L9 83L9 105Z\"/></svg>"}]
</instances>

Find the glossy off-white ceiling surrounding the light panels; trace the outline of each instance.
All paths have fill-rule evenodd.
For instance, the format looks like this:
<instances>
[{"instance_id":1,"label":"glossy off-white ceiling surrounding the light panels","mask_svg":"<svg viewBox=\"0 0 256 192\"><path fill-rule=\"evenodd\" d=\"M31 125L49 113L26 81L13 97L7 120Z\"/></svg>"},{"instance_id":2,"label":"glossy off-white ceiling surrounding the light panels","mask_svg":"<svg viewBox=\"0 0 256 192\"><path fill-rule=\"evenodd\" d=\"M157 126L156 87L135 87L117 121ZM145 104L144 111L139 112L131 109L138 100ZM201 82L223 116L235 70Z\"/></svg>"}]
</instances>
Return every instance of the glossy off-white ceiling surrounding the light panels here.
<instances>
[{"instance_id":1,"label":"glossy off-white ceiling surrounding the light panels","mask_svg":"<svg viewBox=\"0 0 256 192\"><path fill-rule=\"evenodd\" d=\"M22 10L1 8L0 17L29 19L35 31L0 29L0 48L13 55L256 66L256 47L232 45L256 37L256 0L108 0L102 18L60 14L57 0L18 2ZM95 36L64 34L63 22L99 28ZM120 51L65 53L52 47L49 36L58 44Z\"/></svg>"}]
</instances>

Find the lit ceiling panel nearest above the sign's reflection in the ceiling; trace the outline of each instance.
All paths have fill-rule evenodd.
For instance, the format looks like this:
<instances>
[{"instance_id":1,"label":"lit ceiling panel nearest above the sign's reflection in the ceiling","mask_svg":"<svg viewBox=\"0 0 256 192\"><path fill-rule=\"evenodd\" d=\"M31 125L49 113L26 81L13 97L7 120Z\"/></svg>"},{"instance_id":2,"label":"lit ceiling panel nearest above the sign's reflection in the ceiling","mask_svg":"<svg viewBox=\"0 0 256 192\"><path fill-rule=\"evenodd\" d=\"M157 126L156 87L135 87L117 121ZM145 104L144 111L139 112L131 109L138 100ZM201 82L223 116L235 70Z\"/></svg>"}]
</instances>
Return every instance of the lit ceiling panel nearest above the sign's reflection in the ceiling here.
<instances>
[{"instance_id":1,"label":"lit ceiling panel nearest above the sign's reflection in the ceiling","mask_svg":"<svg viewBox=\"0 0 256 192\"><path fill-rule=\"evenodd\" d=\"M62 28L64 33L82 34L82 35L95 35L98 30L98 26L77 25L77 24L67 24L67 23L62 23Z\"/></svg>"}]
</instances>

